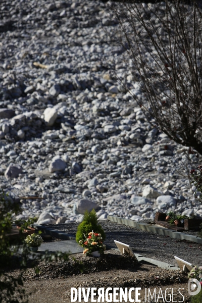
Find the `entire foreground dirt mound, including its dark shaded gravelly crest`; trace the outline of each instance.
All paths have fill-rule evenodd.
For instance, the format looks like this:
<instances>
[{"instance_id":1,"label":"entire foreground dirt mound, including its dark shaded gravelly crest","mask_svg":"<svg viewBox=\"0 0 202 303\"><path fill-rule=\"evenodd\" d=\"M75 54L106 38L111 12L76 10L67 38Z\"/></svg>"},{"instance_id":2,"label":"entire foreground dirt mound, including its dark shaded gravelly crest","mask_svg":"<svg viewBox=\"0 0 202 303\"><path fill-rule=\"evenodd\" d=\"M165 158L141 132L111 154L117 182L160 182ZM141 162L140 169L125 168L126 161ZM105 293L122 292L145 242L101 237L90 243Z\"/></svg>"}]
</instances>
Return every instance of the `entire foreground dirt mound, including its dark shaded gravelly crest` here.
<instances>
[{"instance_id":1,"label":"entire foreground dirt mound, including its dark shaded gravelly crest","mask_svg":"<svg viewBox=\"0 0 202 303\"><path fill-rule=\"evenodd\" d=\"M149 288L152 294L156 288L157 297L161 288L164 300L165 289L171 288L172 293L172 288L174 288L173 301L190 302L187 291L188 278L180 271L168 271L153 265L137 263L127 256L121 256L119 251L114 250L106 251L104 257L101 258L87 257L82 254L73 256L77 261L82 261L83 273L80 272L78 263L73 259L68 262L48 264L38 262L34 264L34 267L38 266L39 274L35 274L34 267L27 269L24 274L26 279L24 288L27 293L31 292L29 303L69 303L71 302L71 287L77 289L79 287L85 289L87 287L125 289L127 287L128 290L131 287L140 287L139 299L142 303L145 302L145 288L147 293ZM19 269L12 271L12 275L15 276L19 273ZM179 290L180 288L181 290ZM168 295L169 291L167 291L167 300L169 301ZM84 300L81 301L84 302ZM88 302L92 302L91 298ZM105 302L107 301L105 300ZM150 300L150 302L155 302L155 300ZM160 298L158 302L163 302L163 299Z\"/></svg>"}]
</instances>

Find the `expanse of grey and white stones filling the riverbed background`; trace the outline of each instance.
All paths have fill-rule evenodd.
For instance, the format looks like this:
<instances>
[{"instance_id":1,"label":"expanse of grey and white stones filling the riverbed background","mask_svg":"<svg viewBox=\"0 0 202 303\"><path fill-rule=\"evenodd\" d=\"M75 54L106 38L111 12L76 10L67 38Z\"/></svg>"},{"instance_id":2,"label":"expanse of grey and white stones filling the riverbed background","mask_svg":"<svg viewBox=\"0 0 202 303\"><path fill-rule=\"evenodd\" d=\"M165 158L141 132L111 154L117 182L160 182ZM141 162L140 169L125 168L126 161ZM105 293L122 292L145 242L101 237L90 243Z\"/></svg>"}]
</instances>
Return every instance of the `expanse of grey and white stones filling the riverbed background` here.
<instances>
[{"instance_id":1,"label":"expanse of grey and white stones filling the riverbed background","mask_svg":"<svg viewBox=\"0 0 202 303\"><path fill-rule=\"evenodd\" d=\"M3 0L0 9L0 187L22 203L18 219L79 222L92 208L100 220L202 216L178 172L186 148L151 128L110 74L126 72L141 97L107 35L117 30L108 4Z\"/></svg>"}]
</instances>

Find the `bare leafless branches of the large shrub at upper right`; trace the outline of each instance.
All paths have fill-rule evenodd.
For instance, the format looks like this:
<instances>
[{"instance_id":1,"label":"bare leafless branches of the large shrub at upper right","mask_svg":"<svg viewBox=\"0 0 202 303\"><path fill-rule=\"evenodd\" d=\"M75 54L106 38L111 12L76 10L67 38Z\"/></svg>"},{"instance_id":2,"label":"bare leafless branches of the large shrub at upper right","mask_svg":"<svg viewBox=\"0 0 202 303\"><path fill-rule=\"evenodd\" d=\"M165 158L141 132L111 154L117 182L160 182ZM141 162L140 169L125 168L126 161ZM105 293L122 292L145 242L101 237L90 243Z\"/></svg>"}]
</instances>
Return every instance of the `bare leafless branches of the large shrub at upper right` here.
<instances>
[{"instance_id":1,"label":"bare leafless branches of the large shrub at upper right","mask_svg":"<svg viewBox=\"0 0 202 303\"><path fill-rule=\"evenodd\" d=\"M111 3L137 104L149 123L202 155L202 11L193 1ZM120 78L121 76L118 75ZM122 78L123 81L123 78Z\"/></svg>"}]
</instances>

